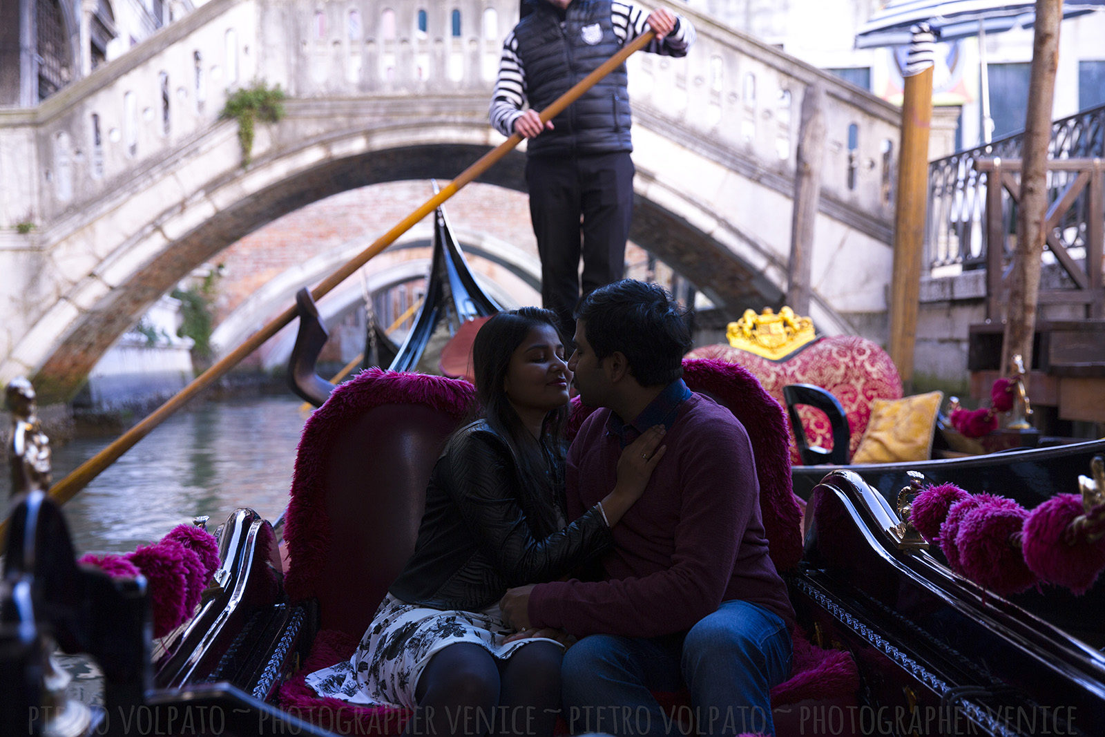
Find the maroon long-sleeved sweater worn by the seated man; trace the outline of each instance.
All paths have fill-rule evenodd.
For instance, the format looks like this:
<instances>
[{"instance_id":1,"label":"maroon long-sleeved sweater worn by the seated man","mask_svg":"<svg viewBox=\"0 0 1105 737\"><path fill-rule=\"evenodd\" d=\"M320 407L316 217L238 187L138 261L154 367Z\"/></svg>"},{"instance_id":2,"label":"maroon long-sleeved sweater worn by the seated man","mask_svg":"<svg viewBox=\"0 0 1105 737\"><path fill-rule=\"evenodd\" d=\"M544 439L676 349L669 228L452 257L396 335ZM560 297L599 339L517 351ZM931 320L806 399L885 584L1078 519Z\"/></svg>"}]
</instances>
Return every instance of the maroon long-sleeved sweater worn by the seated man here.
<instances>
[{"instance_id":1,"label":"maroon long-sleeved sweater worn by the seated man","mask_svg":"<svg viewBox=\"0 0 1105 737\"><path fill-rule=\"evenodd\" d=\"M653 404L624 430L609 409L583 422L568 452L569 518L613 488L622 442L655 423ZM792 628L786 585L768 557L744 425L696 393L664 414L667 451L644 496L613 527L614 549L601 561L606 580L538 585L529 598L530 622L577 636L649 638L688 630L720 602L743 599Z\"/></svg>"}]
</instances>

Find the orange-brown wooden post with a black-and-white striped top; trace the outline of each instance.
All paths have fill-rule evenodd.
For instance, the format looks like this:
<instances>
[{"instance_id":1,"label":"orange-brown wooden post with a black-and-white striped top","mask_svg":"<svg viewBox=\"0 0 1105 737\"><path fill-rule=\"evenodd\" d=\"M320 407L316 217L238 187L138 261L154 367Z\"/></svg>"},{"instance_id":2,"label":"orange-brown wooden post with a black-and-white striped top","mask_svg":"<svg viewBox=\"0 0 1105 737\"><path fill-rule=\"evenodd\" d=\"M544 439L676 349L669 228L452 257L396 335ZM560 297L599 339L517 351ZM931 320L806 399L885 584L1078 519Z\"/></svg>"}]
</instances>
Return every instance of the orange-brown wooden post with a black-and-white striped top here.
<instances>
[{"instance_id":1,"label":"orange-brown wooden post with a black-and-white striped top","mask_svg":"<svg viewBox=\"0 0 1105 737\"><path fill-rule=\"evenodd\" d=\"M891 278L890 354L902 382L913 381L920 298L920 256L928 204L928 133L933 123L935 38L928 25L913 27L902 101L902 143L894 203L894 271Z\"/></svg>"}]
</instances>

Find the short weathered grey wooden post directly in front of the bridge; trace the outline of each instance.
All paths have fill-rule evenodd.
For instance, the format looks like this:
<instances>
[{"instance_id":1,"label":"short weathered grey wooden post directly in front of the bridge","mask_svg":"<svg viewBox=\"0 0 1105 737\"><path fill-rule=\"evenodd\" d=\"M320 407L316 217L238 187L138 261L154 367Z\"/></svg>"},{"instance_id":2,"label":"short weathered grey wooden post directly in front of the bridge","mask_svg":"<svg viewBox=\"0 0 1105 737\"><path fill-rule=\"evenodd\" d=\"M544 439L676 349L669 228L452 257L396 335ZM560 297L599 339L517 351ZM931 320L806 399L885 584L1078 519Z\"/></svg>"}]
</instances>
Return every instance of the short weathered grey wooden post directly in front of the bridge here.
<instances>
[{"instance_id":1,"label":"short weathered grey wooden post directly in front of the bridge","mask_svg":"<svg viewBox=\"0 0 1105 737\"><path fill-rule=\"evenodd\" d=\"M810 314L810 271L813 232L821 199L821 162L825 145L825 91L820 82L806 87L794 152L794 209L790 223L790 265L787 304L799 315Z\"/></svg>"}]
</instances>

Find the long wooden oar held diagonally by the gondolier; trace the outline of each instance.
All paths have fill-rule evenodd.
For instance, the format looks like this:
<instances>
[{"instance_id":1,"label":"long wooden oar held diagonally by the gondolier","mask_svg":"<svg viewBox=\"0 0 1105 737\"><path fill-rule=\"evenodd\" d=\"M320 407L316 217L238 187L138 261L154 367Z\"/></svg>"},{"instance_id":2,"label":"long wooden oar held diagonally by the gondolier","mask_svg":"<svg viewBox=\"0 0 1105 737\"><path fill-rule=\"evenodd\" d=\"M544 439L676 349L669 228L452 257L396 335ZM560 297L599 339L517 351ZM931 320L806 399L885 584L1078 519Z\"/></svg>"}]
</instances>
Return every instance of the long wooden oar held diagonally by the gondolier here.
<instances>
[{"instance_id":1,"label":"long wooden oar held diagonally by the gondolier","mask_svg":"<svg viewBox=\"0 0 1105 737\"><path fill-rule=\"evenodd\" d=\"M650 30L622 46L617 54L604 61L597 70L580 80L571 90L564 93L556 102L541 110L541 123L547 123L559 115L566 107L568 107L568 105L576 102L580 95L594 86L599 80L610 74L610 72L614 71L618 66L624 63L625 60L629 59L629 56L634 52L643 49L650 41L652 41L654 35L655 33ZM378 238L370 246L361 251L360 254L354 256L348 263L330 274L327 278L323 280L318 286L312 289L311 296L318 301L324 295L328 294L330 289L355 274L358 269L364 266L376 254L391 245L396 239L410 230L415 223L422 220L422 218L433 212L438 206L455 194L462 187L490 169L520 143L522 136L514 134L499 144L495 149L484 154L475 164L462 171L456 179L442 188L440 192L422 203L422 206L414 210L414 212L407 215L402 222ZM241 346L224 356L211 366L211 368L196 377L191 383L177 392L171 399L165 402L165 404L161 404L159 408L154 410L148 417L146 417L146 419L130 428L130 430L125 432L99 453L82 463L73 473L54 484L50 488L50 496L53 497L59 504L64 504L73 498L77 492L87 486L93 478L98 476L107 466L112 465L120 455L130 450L135 443L149 434L154 428L161 424L161 422L164 422L170 414L176 412L178 409L188 403L188 401L193 397L222 378L228 371L230 371L230 369L238 366L243 358L256 350L265 343L265 340L276 335L276 333L285 325L290 324L295 316L295 305L292 305L267 325L250 336L250 338ZM4 519L3 523L0 524L0 540L3 539L7 528L8 520Z\"/></svg>"}]
</instances>

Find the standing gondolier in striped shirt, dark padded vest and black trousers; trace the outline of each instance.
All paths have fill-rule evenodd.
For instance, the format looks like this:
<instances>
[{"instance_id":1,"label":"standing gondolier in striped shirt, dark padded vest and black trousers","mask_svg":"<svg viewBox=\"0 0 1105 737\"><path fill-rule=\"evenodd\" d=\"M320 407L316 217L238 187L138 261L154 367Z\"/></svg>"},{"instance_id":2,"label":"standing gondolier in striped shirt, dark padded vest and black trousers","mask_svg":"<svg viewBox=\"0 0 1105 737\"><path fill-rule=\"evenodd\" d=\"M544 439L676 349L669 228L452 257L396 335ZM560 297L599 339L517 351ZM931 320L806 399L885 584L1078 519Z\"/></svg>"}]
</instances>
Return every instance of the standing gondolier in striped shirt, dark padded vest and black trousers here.
<instances>
[{"instance_id":1,"label":"standing gondolier in striped shirt, dark padded vest and black trousers","mask_svg":"<svg viewBox=\"0 0 1105 737\"><path fill-rule=\"evenodd\" d=\"M529 139L526 183L541 298L564 334L572 335L581 294L624 271L634 171L625 65L548 124L541 125L538 110L650 28L656 39L645 51L670 56L685 56L695 32L670 10L618 0L523 0L523 10L503 42L491 123L504 136Z\"/></svg>"}]
</instances>

